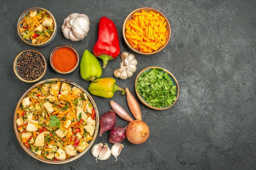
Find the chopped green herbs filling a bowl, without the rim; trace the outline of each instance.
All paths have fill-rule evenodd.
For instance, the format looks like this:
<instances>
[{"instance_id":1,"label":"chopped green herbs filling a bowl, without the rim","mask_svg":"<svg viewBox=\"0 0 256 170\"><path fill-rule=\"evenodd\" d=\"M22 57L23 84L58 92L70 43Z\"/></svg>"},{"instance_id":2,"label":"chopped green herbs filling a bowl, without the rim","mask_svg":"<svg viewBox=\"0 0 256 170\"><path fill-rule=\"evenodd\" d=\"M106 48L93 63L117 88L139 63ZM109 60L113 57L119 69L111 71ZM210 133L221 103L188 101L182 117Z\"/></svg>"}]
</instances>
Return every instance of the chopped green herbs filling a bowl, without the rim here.
<instances>
[{"instance_id":1,"label":"chopped green herbs filling a bowl, without the rim","mask_svg":"<svg viewBox=\"0 0 256 170\"><path fill-rule=\"evenodd\" d=\"M176 85L160 68L143 72L137 80L136 90L153 107L168 107L176 100Z\"/></svg>"}]
</instances>

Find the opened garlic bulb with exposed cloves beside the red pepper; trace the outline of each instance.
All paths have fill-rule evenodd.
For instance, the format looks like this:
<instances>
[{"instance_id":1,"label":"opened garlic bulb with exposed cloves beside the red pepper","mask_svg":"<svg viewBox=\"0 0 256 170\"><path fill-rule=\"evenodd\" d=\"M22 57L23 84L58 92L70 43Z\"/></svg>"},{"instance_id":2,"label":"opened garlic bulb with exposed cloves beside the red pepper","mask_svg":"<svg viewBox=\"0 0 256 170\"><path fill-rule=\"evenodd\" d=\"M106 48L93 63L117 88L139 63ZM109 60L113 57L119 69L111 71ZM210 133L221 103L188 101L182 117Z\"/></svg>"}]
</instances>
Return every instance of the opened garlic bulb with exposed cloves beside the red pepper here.
<instances>
[{"instance_id":1,"label":"opened garlic bulb with exposed cloves beside the red pepper","mask_svg":"<svg viewBox=\"0 0 256 170\"><path fill-rule=\"evenodd\" d=\"M137 60L135 59L134 54L128 52L121 53L120 68L114 71L114 76L121 79L126 79L131 77L134 72L137 70Z\"/></svg>"}]
</instances>

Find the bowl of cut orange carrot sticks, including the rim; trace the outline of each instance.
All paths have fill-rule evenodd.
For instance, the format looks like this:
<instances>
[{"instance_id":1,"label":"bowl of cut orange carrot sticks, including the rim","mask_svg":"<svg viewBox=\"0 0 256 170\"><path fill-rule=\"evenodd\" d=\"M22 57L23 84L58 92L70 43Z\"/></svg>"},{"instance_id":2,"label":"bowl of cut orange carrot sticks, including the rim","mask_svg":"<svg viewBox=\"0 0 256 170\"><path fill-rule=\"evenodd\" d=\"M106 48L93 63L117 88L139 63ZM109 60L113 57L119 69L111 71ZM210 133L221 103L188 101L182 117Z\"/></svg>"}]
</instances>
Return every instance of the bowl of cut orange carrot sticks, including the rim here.
<instances>
[{"instance_id":1,"label":"bowl of cut orange carrot sticks, including the rim","mask_svg":"<svg viewBox=\"0 0 256 170\"><path fill-rule=\"evenodd\" d=\"M127 46L142 55L163 50L171 37L171 26L166 16L153 8L132 11L124 21L123 37Z\"/></svg>"}]
</instances>

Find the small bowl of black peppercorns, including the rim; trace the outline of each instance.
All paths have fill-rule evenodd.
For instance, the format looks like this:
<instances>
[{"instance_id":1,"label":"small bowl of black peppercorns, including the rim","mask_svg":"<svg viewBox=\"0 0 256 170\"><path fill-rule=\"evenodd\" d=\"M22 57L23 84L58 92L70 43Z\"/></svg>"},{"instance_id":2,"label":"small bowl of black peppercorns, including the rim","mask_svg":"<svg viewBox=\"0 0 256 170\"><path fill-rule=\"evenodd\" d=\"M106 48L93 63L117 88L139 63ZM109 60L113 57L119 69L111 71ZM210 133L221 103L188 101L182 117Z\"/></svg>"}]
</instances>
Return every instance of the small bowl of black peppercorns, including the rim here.
<instances>
[{"instance_id":1,"label":"small bowl of black peppercorns, including the rim","mask_svg":"<svg viewBox=\"0 0 256 170\"><path fill-rule=\"evenodd\" d=\"M24 82L39 81L45 75L47 63L43 54L36 50L25 50L13 62L15 75Z\"/></svg>"}]
</instances>

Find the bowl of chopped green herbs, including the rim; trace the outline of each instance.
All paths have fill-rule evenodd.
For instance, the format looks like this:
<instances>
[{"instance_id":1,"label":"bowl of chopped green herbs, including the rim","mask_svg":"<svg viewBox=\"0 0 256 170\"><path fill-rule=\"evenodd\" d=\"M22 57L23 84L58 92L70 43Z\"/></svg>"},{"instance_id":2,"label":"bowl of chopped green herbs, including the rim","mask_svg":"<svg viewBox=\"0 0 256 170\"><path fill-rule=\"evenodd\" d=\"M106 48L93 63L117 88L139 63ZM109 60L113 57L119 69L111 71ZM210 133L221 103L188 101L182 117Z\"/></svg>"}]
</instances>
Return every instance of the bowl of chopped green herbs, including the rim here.
<instances>
[{"instance_id":1,"label":"bowl of chopped green herbs, including the rim","mask_svg":"<svg viewBox=\"0 0 256 170\"><path fill-rule=\"evenodd\" d=\"M135 90L139 100L155 110L170 108L179 96L176 78L171 72L160 67L141 70L136 77Z\"/></svg>"}]
</instances>

